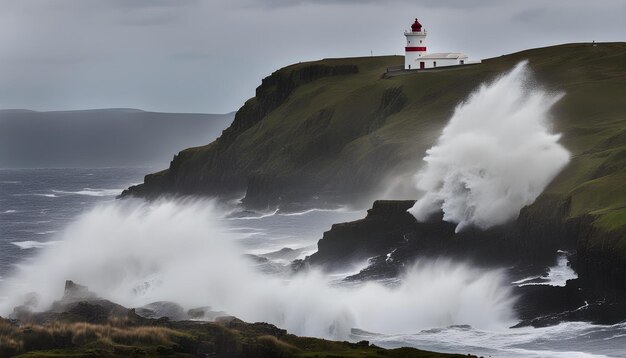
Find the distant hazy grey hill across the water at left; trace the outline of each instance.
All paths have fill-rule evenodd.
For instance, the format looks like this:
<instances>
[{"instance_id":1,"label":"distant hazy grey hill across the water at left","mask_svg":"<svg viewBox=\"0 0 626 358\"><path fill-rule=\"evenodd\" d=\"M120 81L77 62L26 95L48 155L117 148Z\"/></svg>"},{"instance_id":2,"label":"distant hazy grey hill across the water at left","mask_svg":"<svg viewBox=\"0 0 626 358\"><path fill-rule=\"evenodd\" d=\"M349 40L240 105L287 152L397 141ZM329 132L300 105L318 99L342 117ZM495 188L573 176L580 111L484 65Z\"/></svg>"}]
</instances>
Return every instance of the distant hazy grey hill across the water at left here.
<instances>
[{"instance_id":1,"label":"distant hazy grey hill across the water at left","mask_svg":"<svg viewBox=\"0 0 626 358\"><path fill-rule=\"evenodd\" d=\"M233 118L137 109L0 110L0 167L166 167L173 153L213 141Z\"/></svg>"}]
</instances>

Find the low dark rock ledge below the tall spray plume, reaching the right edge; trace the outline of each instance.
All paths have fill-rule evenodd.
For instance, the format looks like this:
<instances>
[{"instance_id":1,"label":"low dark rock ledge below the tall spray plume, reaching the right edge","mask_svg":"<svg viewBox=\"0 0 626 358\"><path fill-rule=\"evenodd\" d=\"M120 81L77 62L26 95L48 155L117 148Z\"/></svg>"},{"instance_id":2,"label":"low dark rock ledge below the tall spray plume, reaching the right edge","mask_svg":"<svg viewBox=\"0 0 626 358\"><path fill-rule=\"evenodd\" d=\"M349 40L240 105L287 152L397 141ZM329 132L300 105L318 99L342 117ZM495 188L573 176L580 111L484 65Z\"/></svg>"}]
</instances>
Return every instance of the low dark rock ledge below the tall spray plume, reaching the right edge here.
<instances>
[{"instance_id":1,"label":"low dark rock ledge below the tall spray plume, reaching the right edge","mask_svg":"<svg viewBox=\"0 0 626 358\"><path fill-rule=\"evenodd\" d=\"M588 238L608 234L595 232L588 217L566 219L566 205L555 198L541 197L510 224L457 234L455 225L441 219L417 222L406 211L414 202L376 201L364 219L333 225L318 242L318 251L294 262L294 267L332 271L370 258L368 268L349 278L367 280L396 277L419 258L441 257L507 268L512 282L545 273L546 267L555 264L557 250L577 250L570 260L579 278L568 281L566 287L516 288L521 297L517 304L520 325L543 326L562 320L612 324L626 319L623 260L585 246Z\"/></svg>"}]
</instances>

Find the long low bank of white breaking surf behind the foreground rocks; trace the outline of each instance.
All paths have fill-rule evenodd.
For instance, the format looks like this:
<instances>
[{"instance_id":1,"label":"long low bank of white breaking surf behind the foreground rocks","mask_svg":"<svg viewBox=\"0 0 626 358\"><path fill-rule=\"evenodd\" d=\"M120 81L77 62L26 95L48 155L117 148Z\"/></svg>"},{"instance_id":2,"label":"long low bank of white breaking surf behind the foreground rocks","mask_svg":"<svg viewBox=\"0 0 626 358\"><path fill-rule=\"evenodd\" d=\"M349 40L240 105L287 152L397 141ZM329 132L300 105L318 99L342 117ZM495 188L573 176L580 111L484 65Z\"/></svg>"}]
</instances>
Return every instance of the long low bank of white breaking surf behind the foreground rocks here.
<instances>
[{"instance_id":1,"label":"long low bank of white breaking surf behind the foreground rocks","mask_svg":"<svg viewBox=\"0 0 626 358\"><path fill-rule=\"evenodd\" d=\"M292 333L345 339L358 327L410 333L469 324L501 330L513 323L506 278L449 261L420 262L394 288L340 287L316 272L287 280L261 274L222 226L211 202L107 203L81 215L39 256L0 286L0 315L29 292L45 309L67 279L129 307L168 300L211 306Z\"/></svg>"}]
</instances>

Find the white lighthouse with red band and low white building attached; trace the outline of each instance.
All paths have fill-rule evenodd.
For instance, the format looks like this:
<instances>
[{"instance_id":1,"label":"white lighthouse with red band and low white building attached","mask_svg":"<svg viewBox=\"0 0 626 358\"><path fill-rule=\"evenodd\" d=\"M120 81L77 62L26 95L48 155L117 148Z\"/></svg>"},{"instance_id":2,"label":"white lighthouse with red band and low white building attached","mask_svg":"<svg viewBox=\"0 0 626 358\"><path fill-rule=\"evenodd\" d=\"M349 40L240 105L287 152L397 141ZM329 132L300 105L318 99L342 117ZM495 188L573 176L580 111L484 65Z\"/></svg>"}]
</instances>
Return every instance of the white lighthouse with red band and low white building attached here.
<instances>
[{"instance_id":1,"label":"white lighthouse with red band and low white building attached","mask_svg":"<svg viewBox=\"0 0 626 358\"><path fill-rule=\"evenodd\" d=\"M427 68L448 67L480 63L480 60L469 60L467 55L458 52L428 53L426 48L426 29L417 19L410 31L405 31L406 47L404 48L404 69L423 70Z\"/></svg>"}]
</instances>

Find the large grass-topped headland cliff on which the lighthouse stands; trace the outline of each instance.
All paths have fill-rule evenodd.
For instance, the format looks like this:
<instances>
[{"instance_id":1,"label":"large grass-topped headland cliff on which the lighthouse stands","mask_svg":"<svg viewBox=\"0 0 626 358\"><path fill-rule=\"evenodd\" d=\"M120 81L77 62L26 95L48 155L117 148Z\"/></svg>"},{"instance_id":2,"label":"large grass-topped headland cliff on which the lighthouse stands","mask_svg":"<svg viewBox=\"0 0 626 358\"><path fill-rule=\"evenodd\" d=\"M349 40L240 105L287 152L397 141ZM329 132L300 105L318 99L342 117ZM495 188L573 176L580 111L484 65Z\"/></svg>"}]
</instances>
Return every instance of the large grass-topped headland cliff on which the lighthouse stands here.
<instances>
[{"instance_id":1,"label":"large grass-topped headland cliff on which the lighthouse stands","mask_svg":"<svg viewBox=\"0 0 626 358\"><path fill-rule=\"evenodd\" d=\"M450 225L435 223L420 226L420 235L449 237L448 242L456 245L450 249L454 252L487 250L491 254L480 254L485 260L491 256L517 260L524 253L545 261L553 259L553 250L569 248L577 251L576 269L586 285L622 289L626 43L552 46L479 65L393 77L384 76L385 71L401 64L402 57L326 59L288 66L262 81L256 96L215 142L180 152L168 169L146 176L143 184L123 195L245 192L244 203L250 207L295 201L369 204L388 189L388 179L406 175L411 180L425 149L458 103L479 84L522 60L528 60L536 83L565 93L552 114L554 130L562 133L571 162L512 226L452 235ZM337 246L338 253L358 244L359 237L369 242L360 249L379 245L376 252L384 251L392 246L385 240L401 240L406 228L414 230L408 214L377 218L376 208L370 214L360 229L337 225L320 249L336 236L347 238L345 244L335 243L344 245ZM372 220L377 220L375 225L390 220L394 239L369 235ZM465 243L464 236L484 244ZM506 250L497 249L501 238L510 243ZM432 239L423 242L428 242L425 249L440 244ZM332 261L331 256L314 255L311 260Z\"/></svg>"}]
</instances>

